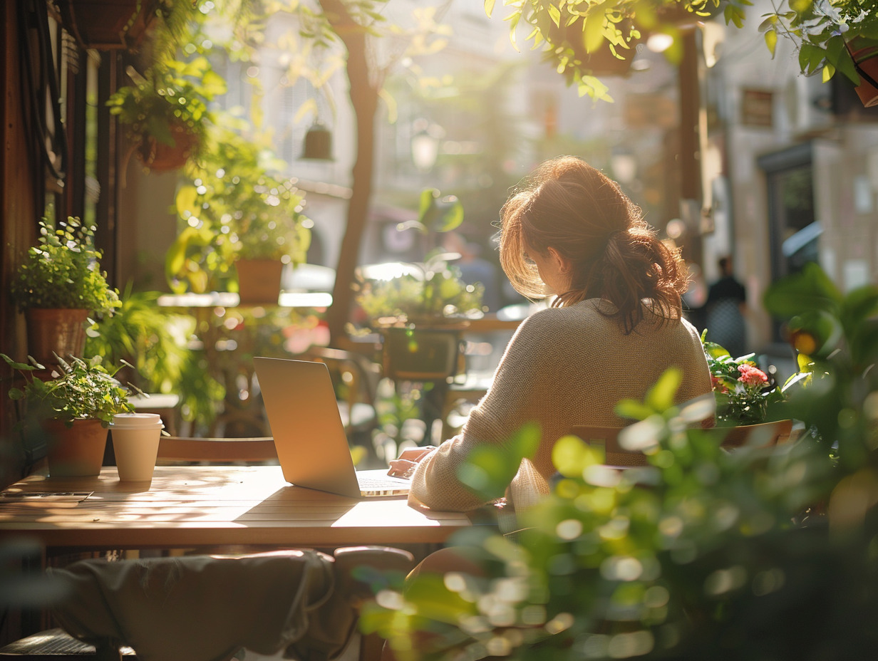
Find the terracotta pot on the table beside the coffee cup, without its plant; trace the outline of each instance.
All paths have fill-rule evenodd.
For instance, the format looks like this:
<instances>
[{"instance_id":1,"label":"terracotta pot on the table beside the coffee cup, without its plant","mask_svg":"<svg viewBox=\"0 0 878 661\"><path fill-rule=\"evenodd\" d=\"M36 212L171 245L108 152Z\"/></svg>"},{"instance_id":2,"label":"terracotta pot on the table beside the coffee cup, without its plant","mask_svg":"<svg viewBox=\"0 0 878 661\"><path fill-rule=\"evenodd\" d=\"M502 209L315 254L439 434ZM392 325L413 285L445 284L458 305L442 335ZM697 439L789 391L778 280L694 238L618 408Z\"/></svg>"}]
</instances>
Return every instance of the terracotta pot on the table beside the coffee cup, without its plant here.
<instances>
[{"instance_id":1,"label":"terracotta pot on the table beside the coffee cup, without its plant","mask_svg":"<svg viewBox=\"0 0 878 661\"><path fill-rule=\"evenodd\" d=\"M67 427L60 420L48 420L49 477L84 478L97 475L104 461L107 429L100 420L75 420Z\"/></svg>"}]
</instances>

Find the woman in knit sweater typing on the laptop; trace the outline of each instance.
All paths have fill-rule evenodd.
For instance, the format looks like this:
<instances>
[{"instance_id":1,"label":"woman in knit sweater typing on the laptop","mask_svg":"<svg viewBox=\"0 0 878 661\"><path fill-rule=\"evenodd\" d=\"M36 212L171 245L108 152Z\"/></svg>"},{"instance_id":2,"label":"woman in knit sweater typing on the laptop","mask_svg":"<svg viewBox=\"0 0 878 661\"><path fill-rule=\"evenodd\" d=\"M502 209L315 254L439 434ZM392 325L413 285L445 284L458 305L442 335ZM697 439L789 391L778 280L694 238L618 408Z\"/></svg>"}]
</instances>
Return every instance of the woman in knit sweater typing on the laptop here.
<instances>
[{"instance_id":1,"label":"woman in knit sweater typing on the laptop","mask_svg":"<svg viewBox=\"0 0 878 661\"><path fill-rule=\"evenodd\" d=\"M417 463L411 498L433 509L483 505L457 467L526 422L542 428L533 462L549 478L558 438L573 425L623 427L616 403L644 399L669 367L684 375L678 402L710 392L701 341L681 313L687 269L607 176L572 156L545 162L500 216L500 264L515 289L557 298L522 322L460 435L392 462L392 473Z\"/></svg>"}]
</instances>

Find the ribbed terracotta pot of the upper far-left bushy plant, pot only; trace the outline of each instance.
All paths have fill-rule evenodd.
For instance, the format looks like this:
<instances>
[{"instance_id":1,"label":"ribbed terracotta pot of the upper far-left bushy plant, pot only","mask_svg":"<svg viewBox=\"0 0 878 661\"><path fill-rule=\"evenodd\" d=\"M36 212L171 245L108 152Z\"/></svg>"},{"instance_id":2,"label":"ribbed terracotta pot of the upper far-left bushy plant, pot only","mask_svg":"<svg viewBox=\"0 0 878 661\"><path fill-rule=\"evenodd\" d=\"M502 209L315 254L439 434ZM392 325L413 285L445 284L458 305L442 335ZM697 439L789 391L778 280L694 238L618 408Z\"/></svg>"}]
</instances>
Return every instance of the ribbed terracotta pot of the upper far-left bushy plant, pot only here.
<instances>
[{"instance_id":1,"label":"ribbed terracotta pot of the upper far-left bushy plant, pot only","mask_svg":"<svg viewBox=\"0 0 878 661\"><path fill-rule=\"evenodd\" d=\"M28 354L46 366L57 363L53 351L62 358L83 356L88 317L89 311L82 309L32 307L26 310Z\"/></svg>"}]
</instances>

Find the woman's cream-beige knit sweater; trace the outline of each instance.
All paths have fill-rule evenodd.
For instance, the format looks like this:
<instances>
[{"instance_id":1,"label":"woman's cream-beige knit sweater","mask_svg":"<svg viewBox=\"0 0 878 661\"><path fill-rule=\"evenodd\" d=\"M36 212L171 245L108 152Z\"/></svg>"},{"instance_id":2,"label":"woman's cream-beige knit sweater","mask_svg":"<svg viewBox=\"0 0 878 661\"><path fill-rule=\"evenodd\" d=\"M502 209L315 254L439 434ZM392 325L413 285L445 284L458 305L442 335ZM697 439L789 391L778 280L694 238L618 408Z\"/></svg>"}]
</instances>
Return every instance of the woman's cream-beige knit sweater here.
<instances>
[{"instance_id":1,"label":"woman's cream-beige knit sweater","mask_svg":"<svg viewBox=\"0 0 878 661\"><path fill-rule=\"evenodd\" d=\"M457 467L479 443L501 448L525 422L543 431L534 465L549 478L551 449L573 425L623 427L613 409L620 399L642 401L667 368L683 371L677 402L710 392L707 360L686 320L660 326L646 318L628 335L598 312L599 298L529 316L500 360L493 384L472 409L461 433L421 460L412 496L436 510L465 512L484 503L457 479Z\"/></svg>"}]
</instances>

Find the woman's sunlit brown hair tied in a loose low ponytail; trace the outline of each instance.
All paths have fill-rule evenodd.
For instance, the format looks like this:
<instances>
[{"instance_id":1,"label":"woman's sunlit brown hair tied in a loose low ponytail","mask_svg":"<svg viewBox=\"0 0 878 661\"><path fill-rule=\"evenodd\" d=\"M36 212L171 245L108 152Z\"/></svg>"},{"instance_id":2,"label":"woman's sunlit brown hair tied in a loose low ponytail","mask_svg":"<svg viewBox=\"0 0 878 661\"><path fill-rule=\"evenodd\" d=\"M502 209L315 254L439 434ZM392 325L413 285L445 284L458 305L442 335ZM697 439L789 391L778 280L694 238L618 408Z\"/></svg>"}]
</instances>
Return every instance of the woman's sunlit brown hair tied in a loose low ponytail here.
<instances>
[{"instance_id":1,"label":"woman's sunlit brown hair tied in a loose low ponytail","mask_svg":"<svg viewBox=\"0 0 878 661\"><path fill-rule=\"evenodd\" d=\"M515 289L542 297L543 281L526 250L554 248L572 265L569 291L553 305L605 298L617 312L604 313L626 334L644 319L644 298L663 321L679 319L687 268L641 217L615 182L586 162L560 156L522 180L500 210L500 264Z\"/></svg>"}]
</instances>

